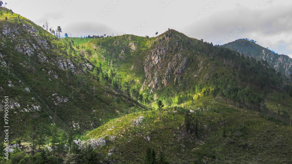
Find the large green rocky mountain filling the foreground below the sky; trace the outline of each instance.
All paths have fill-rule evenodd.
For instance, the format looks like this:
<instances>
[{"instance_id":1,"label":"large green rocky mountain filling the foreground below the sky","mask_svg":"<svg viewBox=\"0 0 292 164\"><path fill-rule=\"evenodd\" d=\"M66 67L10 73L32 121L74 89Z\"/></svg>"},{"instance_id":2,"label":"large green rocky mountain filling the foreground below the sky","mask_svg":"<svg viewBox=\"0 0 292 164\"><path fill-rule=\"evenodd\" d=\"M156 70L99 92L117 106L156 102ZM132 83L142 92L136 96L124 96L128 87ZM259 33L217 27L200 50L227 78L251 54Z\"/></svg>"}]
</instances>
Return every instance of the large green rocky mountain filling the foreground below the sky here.
<instances>
[{"instance_id":1,"label":"large green rocky mountain filling the foreground below the sky","mask_svg":"<svg viewBox=\"0 0 292 164\"><path fill-rule=\"evenodd\" d=\"M1 163L291 163L292 86L267 62L173 29L58 39L1 12Z\"/></svg>"}]
</instances>

